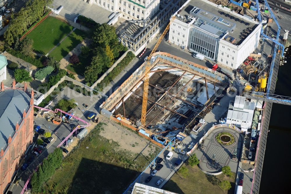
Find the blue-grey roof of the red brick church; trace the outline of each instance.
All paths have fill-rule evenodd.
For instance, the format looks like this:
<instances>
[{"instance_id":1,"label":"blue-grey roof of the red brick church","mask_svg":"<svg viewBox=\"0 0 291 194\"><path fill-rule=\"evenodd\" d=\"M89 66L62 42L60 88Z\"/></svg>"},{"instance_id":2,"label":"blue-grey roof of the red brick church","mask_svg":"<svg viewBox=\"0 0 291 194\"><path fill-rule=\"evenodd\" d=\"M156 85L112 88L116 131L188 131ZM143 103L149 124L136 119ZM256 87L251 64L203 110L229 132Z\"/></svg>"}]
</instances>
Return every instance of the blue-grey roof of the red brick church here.
<instances>
[{"instance_id":1,"label":"blue-grey roof of the red brick church","mask_svg":"<svg viewBox=\"0 0 291 194\"><path fill-rule=\"evenodd\" d=\"M5 148L16 123L22 119L24 110L30 107L30 97L21 90L7 89L0 92L0 148Z\"/></svg>"}]
</instances>

